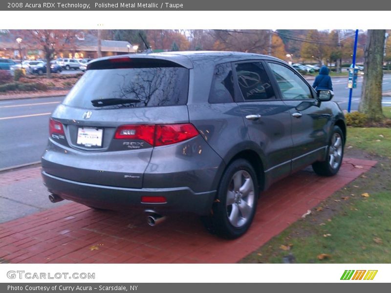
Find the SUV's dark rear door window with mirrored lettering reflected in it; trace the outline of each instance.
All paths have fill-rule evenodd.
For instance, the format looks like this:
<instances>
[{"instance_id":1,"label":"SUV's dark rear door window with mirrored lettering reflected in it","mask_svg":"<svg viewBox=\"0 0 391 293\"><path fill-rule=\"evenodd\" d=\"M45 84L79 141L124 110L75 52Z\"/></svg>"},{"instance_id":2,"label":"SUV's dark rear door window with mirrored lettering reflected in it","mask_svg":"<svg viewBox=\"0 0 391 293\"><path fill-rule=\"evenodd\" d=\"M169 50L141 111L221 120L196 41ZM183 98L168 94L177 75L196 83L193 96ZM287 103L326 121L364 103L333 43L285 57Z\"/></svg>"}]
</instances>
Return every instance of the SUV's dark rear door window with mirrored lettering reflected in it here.
<instances>
[{"instance_id":1,"label":"SUV's dark rear door window with mirrored lettering reflected in it","mask_svg":"<svg viewBox=\"0 0 391 293\"><path fill-rule=\"evenodd\" d=\"M276 98L262 63L236 64L236 73L244 100L268 100Z\"/></svg>"}]
</instances>

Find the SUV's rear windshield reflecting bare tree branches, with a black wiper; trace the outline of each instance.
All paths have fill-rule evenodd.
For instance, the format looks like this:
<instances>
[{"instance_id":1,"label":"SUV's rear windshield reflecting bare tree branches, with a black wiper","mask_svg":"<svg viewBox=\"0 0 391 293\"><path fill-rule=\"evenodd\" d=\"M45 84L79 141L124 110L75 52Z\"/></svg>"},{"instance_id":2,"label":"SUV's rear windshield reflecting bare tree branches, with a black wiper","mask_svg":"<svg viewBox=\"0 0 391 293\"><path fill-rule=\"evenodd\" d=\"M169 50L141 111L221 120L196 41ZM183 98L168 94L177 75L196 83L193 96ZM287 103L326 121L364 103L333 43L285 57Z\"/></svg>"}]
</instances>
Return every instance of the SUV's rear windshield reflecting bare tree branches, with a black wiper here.
<instances>
[{"instance_id":1,"label":"SUV's rear windshield reflecting bare tree branches, with a black wiper","mask_svg":"<svg viewBox=\"0 0 391 293\"><path fill-rule=\"evenodd\" d=\"M183 67L87 70L64 104L98 109L91 101L124 99L123 104L99 108L186 105L188 84L189 70Z\"/></svg>"}]
</instances>

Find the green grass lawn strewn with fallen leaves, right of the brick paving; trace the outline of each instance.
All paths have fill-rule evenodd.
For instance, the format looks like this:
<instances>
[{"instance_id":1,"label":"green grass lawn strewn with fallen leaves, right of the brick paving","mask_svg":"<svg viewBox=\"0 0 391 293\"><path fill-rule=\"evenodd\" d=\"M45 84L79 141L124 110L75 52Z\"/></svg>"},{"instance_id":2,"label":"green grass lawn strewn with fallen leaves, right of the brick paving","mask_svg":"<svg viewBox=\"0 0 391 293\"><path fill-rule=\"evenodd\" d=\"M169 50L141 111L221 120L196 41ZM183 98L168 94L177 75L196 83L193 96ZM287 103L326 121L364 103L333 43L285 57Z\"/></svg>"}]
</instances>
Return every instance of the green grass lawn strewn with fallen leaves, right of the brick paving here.
<instances>
[{"instance_id":1,"label":"green grass lawn strewn with fallen leaves, right of the brick paving","mask_svg":"<svg viewBox=\"0 0 391 293\"><path fill-rule=\"evenodd\" d=\"M391 128L349 127L346 151L378 163L241 262L391 263Z\"/></svg>"}]
</instances>

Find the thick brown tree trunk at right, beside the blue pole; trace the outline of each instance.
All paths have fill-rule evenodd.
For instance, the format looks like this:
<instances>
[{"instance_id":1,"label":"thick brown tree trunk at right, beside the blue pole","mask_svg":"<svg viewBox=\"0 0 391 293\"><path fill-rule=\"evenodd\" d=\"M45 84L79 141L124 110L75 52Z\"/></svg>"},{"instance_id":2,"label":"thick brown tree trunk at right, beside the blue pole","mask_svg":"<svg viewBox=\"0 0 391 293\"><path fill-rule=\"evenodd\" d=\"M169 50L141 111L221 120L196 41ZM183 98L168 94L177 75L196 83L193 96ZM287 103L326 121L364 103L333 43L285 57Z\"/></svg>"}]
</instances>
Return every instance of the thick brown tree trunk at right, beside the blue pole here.
<instances>
[{"instance_id":1,"label":"thick brown tree trunk at right, beside the blue pole","mask_svg":"<svg viewBox=\"0 0 391 293\"><path fill-rule=\"evenodd\" d=\"M364 81L359 111L370 121L384 118L382 112L383 54L386 30L369 29L364 50Z\"/></svg>"}]
</instances>

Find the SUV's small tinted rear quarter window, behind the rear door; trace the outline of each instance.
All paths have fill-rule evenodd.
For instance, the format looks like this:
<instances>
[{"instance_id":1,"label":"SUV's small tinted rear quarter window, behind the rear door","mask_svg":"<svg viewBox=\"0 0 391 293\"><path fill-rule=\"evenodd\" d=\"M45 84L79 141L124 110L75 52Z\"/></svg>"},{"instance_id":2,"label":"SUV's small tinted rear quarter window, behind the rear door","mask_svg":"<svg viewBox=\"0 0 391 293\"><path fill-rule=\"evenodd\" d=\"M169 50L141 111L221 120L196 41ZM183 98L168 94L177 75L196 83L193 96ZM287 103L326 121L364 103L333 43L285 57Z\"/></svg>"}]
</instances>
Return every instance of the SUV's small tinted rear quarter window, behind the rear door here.
<instances>
[{"instance_id":1,"label":"SUV's small tinted rear quarter window, behind the rear door","mask_svg":"<svg viewBox=\"0 0 391 293\"><path fill-rule=\"evenodd\" d=\"M233 103L234 83L231 63L218 64L213 74L209 103Z\"/></svg>"}]
</instances>

